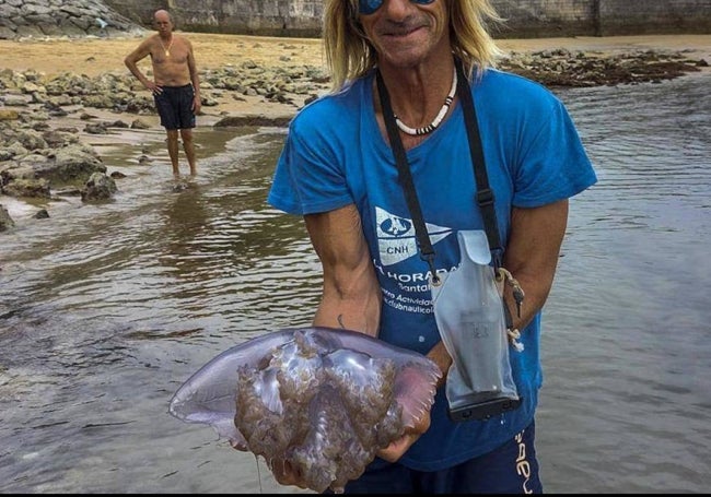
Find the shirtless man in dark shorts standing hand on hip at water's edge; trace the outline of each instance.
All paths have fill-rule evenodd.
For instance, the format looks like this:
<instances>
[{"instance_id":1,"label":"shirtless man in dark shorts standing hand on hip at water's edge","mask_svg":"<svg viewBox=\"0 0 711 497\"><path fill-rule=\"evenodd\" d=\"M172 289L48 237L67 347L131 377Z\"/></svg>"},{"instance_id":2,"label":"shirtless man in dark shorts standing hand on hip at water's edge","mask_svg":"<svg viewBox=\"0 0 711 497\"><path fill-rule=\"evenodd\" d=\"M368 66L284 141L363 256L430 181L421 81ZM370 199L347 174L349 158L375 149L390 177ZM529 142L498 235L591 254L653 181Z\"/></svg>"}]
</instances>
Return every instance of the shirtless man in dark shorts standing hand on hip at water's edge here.
<instances>
[{"instance_id":1,"label":"shirtless man in dark shorts standing hand on hip at water's edge","mask_svg":"<svg viewBox=\"0 0 711 497\"><path fill-rule=\"evenodd\" d=\"M145 38L136 50L126 56L124 63L153 94L161 126L167 133L173 175L179 176L179 131L190 176L195 176L197 168L193 128L196 126L195 116L200 111L200 81L193 45L184 36L173 33L174 24L167 11L155 11L153 20L158 33ZM148 56L151 56L153 63L153 81L138 69L138 62Z\"/></svg>"}]
</instances>

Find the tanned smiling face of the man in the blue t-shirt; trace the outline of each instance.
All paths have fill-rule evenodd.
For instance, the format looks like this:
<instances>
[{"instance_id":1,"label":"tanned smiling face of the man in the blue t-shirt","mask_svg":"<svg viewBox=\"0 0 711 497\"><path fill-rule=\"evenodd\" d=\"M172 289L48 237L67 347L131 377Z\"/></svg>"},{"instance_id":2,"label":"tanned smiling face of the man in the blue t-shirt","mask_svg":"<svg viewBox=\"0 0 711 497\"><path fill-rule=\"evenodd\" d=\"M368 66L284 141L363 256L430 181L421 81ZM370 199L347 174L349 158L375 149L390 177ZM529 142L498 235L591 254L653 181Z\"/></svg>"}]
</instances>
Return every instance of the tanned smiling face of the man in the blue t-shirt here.
<instances>
[{"instance_id":1,"label":"tanned smiling face of the man in the blue t-shirt","mask_svg":"<svg viewBox=\"0 0 711 497\"><path fill-rule=\"evenodd\" d=\"M448 51L446 1L359 0L358 15L382 61L411 67L436 49Z\"/></svg>"}]
</instances>

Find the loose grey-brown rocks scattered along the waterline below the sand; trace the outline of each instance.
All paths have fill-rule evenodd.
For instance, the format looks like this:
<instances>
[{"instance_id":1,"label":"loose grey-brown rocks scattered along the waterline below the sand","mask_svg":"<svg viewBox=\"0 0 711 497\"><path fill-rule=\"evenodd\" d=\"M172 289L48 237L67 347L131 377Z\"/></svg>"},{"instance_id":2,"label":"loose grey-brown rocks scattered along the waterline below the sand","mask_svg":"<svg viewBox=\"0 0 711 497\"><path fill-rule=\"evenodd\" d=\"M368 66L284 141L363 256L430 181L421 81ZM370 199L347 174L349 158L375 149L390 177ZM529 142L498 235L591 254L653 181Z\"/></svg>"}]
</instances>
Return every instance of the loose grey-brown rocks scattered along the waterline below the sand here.
<instances>
[{"instance_id":1,"label":"loose grey-brown rocks scattered along the waterline below the sand","mask_svg":"<svg viewBox=\"0 0 711 497\"><path fill-rule=\"evenodd\" d=\"M283 116L222 116L215 127L287 126L295 111L327 92L323 68L293 66L288 60L264 67L250 60L200 71L203 109L226 99L283 105ZM1 62L0 62L1 63ZM500 68L556 87L662 82L707 68L703 59L679 51L644 50L603 55L567 49L511 52ZM79 196L106 199L116 190L101 156L80 140L85 133L145 128L140 116L154 115L152 96L124 72L95 78L63 73L50 78L30 70L0 70L0 232L13 226L1 205L2 196L53 199ZM89 109L103 109L121 119L96 120ZM79 116L84 129L62 126L62 117ZM130 122L127 122L126 119ZM116 178L120 179L120 178ZM38 217L48 213L38 212Z\"/></svg>"}]
</instances>

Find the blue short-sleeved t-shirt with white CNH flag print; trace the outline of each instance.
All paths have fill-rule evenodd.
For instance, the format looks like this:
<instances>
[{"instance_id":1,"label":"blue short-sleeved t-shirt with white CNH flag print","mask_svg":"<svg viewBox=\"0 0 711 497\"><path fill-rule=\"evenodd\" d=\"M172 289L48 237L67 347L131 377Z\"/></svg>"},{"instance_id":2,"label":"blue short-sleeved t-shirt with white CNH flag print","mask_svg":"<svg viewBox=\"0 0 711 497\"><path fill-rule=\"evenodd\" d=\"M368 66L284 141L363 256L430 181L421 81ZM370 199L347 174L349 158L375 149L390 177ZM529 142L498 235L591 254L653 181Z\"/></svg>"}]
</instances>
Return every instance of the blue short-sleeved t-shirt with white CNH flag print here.
<instances>
[{"instance_id":1,"label":"blue short-sleeved t-shirt with white CNH flag print","mask_svg":"<svg viewBox=\"0 0 711 497\"><path fill-rule=\"evenodd\" d=\"M383 291L378 338L427 354L440 341L429 268L418 255L393 151L375 120L373 76L371 72L342 92L315 100L294 117L268 201L300 215L354 203ZM544 86L488 70L471 90L505 246L512 206L570 198L592 186L596 176L567 109ZM407 158L436 269L455 269L457 230L483 229L461 100ZM486 422L454 423L440 389L430 429L400 463L419 471L451 468L496 449L533 421L543 381L540 313L521 334L524 351L510 352L521 406Z\"/></svg>"}]
</instances>

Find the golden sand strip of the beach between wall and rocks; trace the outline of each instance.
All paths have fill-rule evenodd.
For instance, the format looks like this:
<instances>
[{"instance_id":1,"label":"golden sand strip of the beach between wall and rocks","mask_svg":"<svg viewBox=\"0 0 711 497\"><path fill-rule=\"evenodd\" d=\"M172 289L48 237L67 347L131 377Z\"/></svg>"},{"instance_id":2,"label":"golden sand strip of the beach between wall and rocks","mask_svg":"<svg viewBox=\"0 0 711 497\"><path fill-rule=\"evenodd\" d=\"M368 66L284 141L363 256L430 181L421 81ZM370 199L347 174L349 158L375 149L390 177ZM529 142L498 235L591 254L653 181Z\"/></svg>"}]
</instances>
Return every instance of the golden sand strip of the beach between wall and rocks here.
<instances>
[{"instance_id":1,"label":"golden sand strip of the beach between wall and rocks","mask_svg":"<svg viewBox=\"0 0 711 497\"><path fill-rule=\"evenodd\" d=\"M277 38L261 36L222 35L176 32L188 37L194 45L198 69L238 67L247 60L260 66L306 64L325 67L322 43L313 38ZM147 32L147 35L150 32ZM124 57L141 42L142 37L81 39L46 38L0 40L0 69L15 71L35 70L45 76L62 72L96 76L106 72L128 74ZM566 48L585 52L631 52L640 50L684 51L689 57L711 62L711 34L709 35L654 35L619 37L569 37L501 39L506 51L525 52ZM141 62L150 69L148 59ZM209 88L207 88L209 92ZM264 102L260 98L222 99L217 108L205 108L211 115L260 114L280 116L293 114L293 106ZM208 119L210 123L212 120Z\"/></svg>"}]
</instances>

